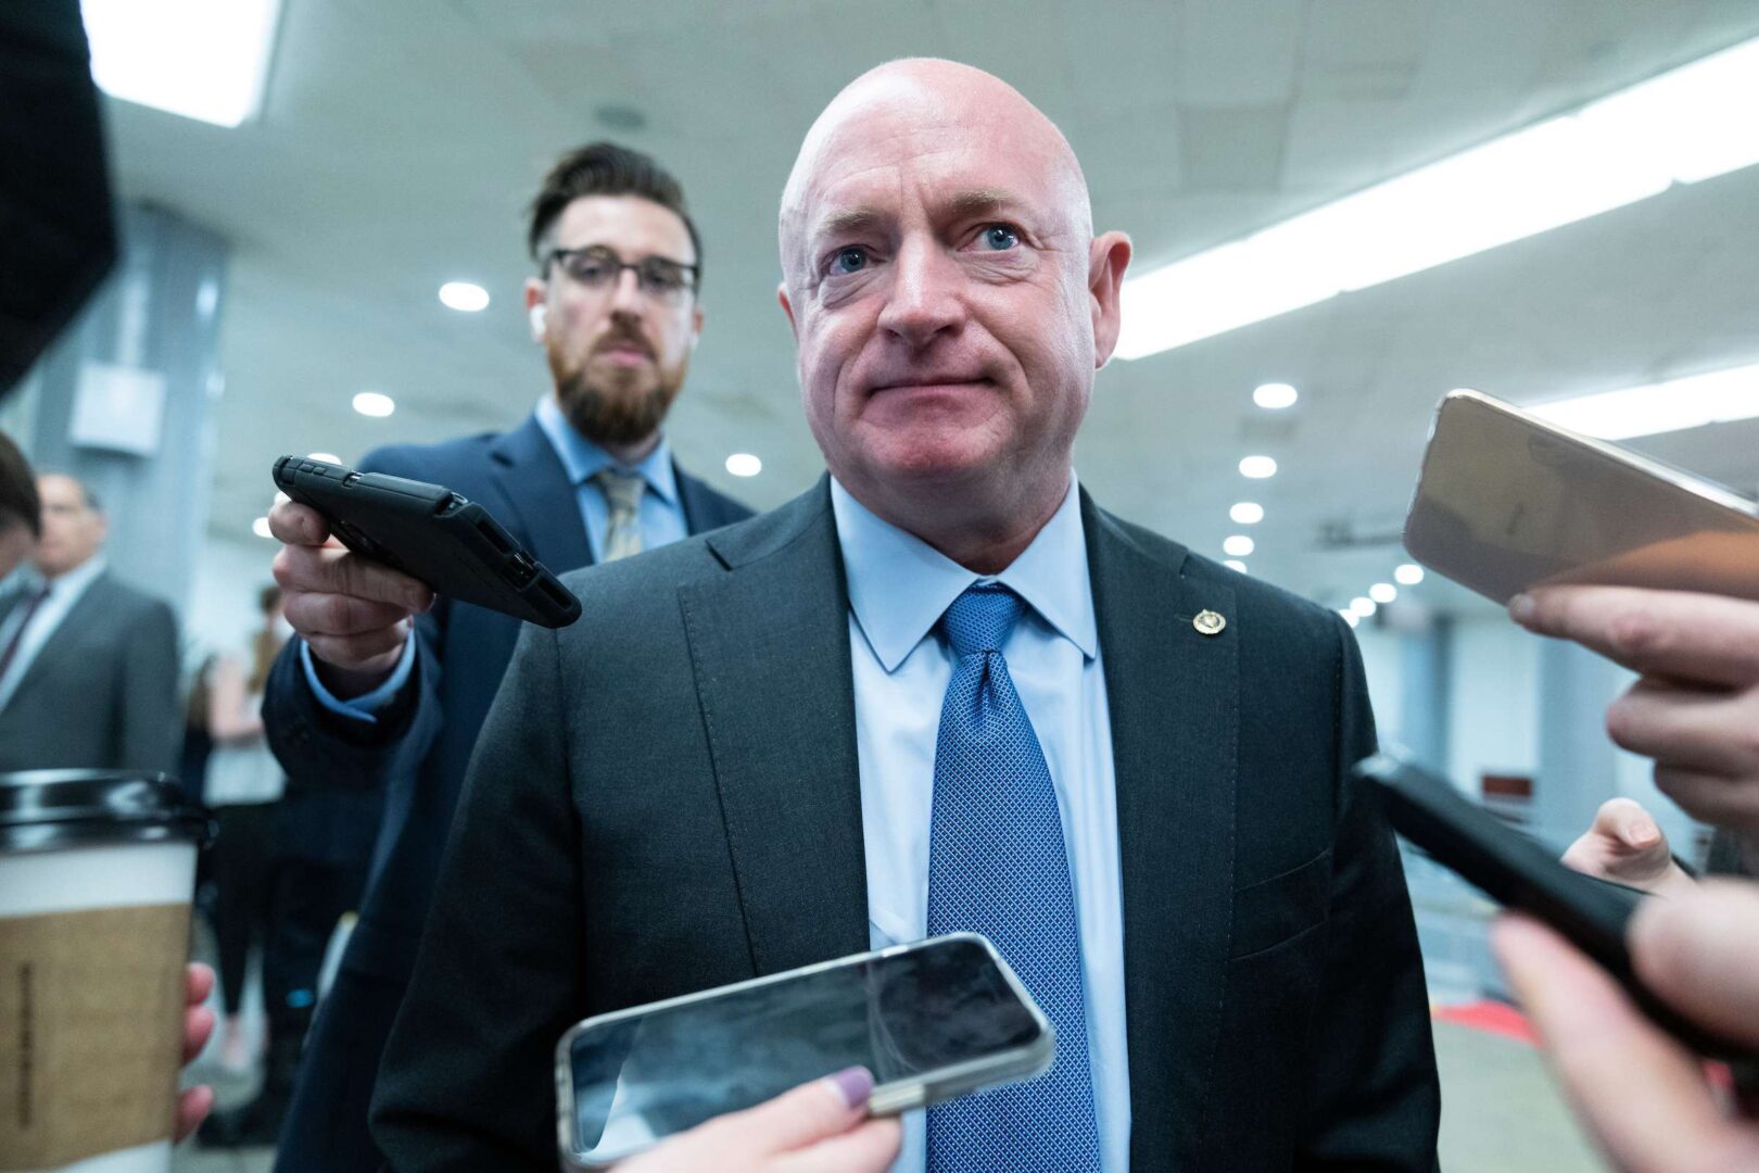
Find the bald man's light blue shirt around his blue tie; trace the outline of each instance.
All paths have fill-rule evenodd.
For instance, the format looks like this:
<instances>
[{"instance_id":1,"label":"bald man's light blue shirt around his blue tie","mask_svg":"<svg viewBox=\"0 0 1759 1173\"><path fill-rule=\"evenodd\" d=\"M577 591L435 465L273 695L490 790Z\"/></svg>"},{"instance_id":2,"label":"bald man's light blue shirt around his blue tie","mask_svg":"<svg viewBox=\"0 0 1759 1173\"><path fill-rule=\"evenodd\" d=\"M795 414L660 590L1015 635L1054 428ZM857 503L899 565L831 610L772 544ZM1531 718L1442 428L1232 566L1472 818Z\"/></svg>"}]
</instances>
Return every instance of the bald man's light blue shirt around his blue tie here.
<instances>
[{"instance_id":1,"label":"bald man's light blue shirt around his blue tie","mask_svg":"<svg viewBox=\"0 0 1759 1173\"><path fill-rule=\"evenodd\" d=\"M973 582L1001 582L1029 605L1001 651L1057 791L1082 934L1099 1154L1106 1173L1126 1173L1129 1064L1117 786L1075 478L1025 552L992 579L881 521L836 480L830 503L850 584L869 943L885 948L927 936L934 742L955 661L934 626ZM892 1169L920 1173L925 1155L925 1117L908 1113L904 1150Z\"/></svg>"}]
</instances>

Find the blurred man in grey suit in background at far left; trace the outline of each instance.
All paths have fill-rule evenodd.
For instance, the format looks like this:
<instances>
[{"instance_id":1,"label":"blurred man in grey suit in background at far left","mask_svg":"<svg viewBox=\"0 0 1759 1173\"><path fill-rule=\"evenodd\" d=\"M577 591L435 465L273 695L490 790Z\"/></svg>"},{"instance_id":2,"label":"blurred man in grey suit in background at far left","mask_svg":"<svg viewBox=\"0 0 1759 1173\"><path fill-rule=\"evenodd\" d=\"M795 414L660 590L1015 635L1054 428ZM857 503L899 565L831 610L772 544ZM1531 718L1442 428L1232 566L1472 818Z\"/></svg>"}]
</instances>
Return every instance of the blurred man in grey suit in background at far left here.
<instances>
[{"instance_id":1,"label":"blurred man in grey suit in background at far left","mask_svg":"<svg viewBox=\"0 0 1759 1173\"><path fill-rule=\"evenodd\" d=\"M46 473L37 496L32 570L0 598L0 770L171 770L178 621L111 573L86 485Z\"/></svg>"}]
</instances>

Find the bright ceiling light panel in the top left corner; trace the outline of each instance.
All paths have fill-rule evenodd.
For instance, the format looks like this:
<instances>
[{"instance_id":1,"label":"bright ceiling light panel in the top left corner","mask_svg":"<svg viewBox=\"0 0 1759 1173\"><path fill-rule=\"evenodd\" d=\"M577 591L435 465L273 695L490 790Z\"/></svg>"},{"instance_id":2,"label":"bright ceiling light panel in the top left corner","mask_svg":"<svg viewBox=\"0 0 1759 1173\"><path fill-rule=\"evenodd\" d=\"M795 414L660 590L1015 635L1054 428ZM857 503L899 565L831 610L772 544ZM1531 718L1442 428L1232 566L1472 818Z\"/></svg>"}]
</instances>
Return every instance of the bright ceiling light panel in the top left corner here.
<instances>
[{"instance_id":1,"label":"bright ceiling light panel in the top left corner","mask_svg":"<svg viewBox=\"0 0 1759 1173\"><path fill-rule=\"evenodd\" d=\"M262 104L280 0L81 0L111 97L237 127Z\"/></svg>"}]
</instances>

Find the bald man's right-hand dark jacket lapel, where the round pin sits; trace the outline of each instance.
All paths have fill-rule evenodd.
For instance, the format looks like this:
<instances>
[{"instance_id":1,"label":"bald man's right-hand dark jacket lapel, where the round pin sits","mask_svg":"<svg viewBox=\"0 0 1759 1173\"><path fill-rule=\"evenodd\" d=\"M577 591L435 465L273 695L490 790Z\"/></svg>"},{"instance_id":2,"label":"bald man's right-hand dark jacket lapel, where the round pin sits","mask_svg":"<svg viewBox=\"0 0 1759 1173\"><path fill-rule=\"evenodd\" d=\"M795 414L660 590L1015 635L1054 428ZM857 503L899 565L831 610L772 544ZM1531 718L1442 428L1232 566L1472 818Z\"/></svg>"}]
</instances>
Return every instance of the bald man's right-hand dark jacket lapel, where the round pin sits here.
<instances>
[{"instance_id":1,"label":"bald man's right-hand dark jacket lapel, where the round pin sits","mask_svg":"<svg viewBox=\"0 0 1759 1173\"><path fill-rule=\"evenodd\" d=\"M1233 593L1180 573L1082 496L1105 658L1124 879L1131 1164L1201 1168L1233 913L1237 626Z\"/></svg>"}]
</instances>

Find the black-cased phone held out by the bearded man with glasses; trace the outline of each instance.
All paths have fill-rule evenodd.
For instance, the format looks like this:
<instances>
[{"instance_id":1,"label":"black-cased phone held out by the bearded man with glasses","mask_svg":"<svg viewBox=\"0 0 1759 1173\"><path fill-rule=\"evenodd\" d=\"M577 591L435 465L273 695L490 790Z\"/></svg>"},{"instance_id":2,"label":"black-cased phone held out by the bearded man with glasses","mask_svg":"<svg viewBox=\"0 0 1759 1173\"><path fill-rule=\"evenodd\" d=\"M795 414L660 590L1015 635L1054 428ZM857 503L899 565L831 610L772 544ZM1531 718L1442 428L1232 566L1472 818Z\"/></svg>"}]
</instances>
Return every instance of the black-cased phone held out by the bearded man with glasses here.
<instances>
[{"instance_id":1,"label":"black-cased phone held out by the bearded man with glasses","mask_svg":"<svg viewBox=\"0 0 1759 1173\"><path fill-rule=\"evenodd\" d=\"M545 628L580 617L580 600L489 510L443 485L297 455L274 463L274 484L322 514L350 550L420 579L438 594Z\"/></svg>"}]
</instances>

